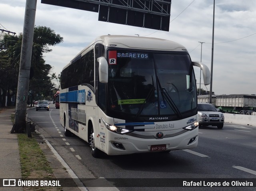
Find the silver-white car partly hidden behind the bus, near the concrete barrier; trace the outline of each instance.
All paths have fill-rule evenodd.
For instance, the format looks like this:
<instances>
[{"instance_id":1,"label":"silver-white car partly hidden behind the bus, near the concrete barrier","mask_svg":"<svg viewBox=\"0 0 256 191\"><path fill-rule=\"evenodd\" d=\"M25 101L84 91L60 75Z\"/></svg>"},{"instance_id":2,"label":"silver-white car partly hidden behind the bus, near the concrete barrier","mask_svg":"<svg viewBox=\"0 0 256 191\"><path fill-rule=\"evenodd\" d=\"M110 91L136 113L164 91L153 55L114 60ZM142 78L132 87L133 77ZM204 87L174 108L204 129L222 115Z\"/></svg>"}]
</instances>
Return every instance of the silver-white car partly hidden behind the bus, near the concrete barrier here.
<instances>
[{"instance_id":1,"label":"silver-white car partly hidden behind the bus, near the concrete barrier","mask_svg":"<svg viewBox=\"0 0 256 191\"><path fill-rule=\"evenodd\" d=\"M201 126L217 126L218 129L222 129L224 125L224 114L219 112L210 103L198 102L198 115L199 115L199 128Z\"/></svg>"}]
</instances>

